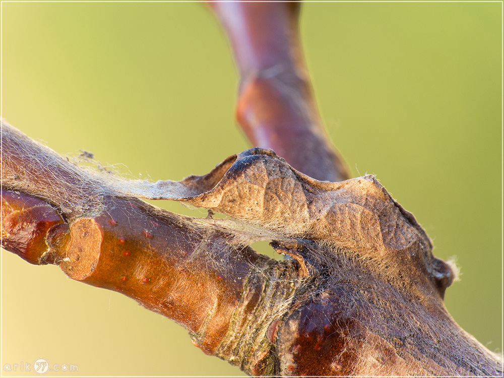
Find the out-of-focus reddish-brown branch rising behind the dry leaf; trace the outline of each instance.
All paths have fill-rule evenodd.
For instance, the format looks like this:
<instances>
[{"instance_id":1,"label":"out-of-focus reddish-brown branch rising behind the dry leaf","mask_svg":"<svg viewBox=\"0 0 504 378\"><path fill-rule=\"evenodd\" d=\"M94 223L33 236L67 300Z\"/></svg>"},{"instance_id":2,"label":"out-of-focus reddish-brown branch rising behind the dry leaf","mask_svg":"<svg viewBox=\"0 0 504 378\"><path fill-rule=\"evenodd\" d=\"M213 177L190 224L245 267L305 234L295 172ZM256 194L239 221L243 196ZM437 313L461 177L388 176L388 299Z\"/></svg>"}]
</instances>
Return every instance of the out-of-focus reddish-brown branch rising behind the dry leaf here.
<instances>
[{"instance_id":1,"label":"out-of-focus reddish-brown branch rising behind the dry leaf","mask_svg":"<svg viewBox=\"0 0 504 378\"><path fill-rule=\"evenodd\" d=\"M314 99L299 40L299 3L209 4L234 51L236 117L249 141L319 180L350 178Z\"/></svg>"}]
</instances>

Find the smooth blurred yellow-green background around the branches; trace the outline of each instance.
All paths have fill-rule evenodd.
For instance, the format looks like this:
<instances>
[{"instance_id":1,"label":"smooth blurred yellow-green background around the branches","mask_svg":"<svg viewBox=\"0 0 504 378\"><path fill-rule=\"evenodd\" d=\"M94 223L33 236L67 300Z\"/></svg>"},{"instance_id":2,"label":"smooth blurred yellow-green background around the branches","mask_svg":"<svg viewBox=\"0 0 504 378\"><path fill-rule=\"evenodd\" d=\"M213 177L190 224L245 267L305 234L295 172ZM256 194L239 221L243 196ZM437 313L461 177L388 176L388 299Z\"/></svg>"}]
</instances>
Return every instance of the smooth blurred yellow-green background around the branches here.
<instances>
[{"instance_id":1,"label":"smooth blurred yellow-green background around the branches","mask_svg":"<svg viewBox=\"0 0 504 378\"><path fill-rule=\"evenodd\" d=\"M457 257L446 305L492 351L502 347L501 7L312 3L301 15L329 134L354 175L376 174L415 214L436 256ZM60 153L85 149L157 180L206 173L249 147L233 118L232 55L203 4L3 3L2 32L2 116ZM3 364L240 374L135 301L6 251L2 294Z\"/></svg>"}]
</instances>

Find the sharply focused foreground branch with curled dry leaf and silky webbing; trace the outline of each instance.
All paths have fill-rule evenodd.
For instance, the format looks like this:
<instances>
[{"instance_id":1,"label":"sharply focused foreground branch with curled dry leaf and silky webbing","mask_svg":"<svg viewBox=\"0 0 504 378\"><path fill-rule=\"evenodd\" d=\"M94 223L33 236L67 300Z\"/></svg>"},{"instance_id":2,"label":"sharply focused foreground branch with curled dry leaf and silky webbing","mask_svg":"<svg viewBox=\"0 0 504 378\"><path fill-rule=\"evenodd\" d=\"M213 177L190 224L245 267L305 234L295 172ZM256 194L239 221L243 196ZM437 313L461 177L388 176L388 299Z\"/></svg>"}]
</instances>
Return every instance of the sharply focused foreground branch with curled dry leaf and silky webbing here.
<instances>
[{"instance_id":1,"label":"sharply focused foreground branch with curled dry leaf and silky webbing","mask_svg":"<svg viewBox=\"0 0 504 378\"><path fill-rule=\"evenodd\" d=\"M116 290L254 375L498 375L450 317L451 267L373 177L314 180L271 150L204 176L126 181L3 124L3 246ZM17 191L17 192L16 192ZM189 218L138 198L228 215ZM248 245L272 240L291 258Z\"/></svg>"}]
</instances>

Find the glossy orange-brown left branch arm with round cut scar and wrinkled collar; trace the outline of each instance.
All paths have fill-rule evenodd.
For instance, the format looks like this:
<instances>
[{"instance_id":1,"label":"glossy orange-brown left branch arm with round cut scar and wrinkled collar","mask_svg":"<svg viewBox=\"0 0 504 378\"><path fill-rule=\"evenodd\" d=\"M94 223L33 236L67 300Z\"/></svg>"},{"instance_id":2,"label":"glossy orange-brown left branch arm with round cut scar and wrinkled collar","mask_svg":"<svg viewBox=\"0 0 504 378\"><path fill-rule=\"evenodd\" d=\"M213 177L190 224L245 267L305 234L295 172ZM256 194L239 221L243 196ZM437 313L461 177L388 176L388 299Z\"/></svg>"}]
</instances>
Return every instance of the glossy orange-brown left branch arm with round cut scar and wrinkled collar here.
<instances>
[{"instance_id":1,"label":"glossy orange-brown left branch arm with round cut scar and wrinkled collar","mask_svg":"<svg viewBox=\"0 0 504 378\"><path fill-rule=\"evenodd\" d=\"M265 317L261 325L254 311L259 302L269 306L264 314L277 305L285 311L297 285L284 296L265 287L272 276L295 277L291 262L275 262L233 242L235 235L222 227L121 196L107 173L93 174L5 122L2 140L4 248L134 298L185 327L207 354L238 360L250 373L273 371L265 362L273 357L264 340L278 319ZM236 338L244 334L263 341L237 357Z\"/></svg>"}]
</instances>

